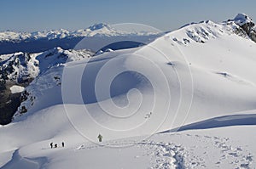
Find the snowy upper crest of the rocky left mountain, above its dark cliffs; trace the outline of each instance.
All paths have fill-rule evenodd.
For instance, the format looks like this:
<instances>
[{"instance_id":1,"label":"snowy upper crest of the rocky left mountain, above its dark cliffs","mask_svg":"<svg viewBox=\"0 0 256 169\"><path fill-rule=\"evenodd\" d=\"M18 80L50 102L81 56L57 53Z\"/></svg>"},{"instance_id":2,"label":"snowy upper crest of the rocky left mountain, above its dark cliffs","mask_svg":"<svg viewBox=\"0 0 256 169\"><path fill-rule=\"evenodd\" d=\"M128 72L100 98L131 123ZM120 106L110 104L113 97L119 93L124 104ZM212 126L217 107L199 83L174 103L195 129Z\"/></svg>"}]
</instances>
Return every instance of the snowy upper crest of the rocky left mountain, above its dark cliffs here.
<instances>
[{"instance_id":1,"label":"snowy upper crest of the rocky left mountain, above its dark cliffs","mask_svg":"<svg viewBox=\"0 0 256 169\"><path fill-rule=\"evenodd\" d=\"M88 58L90 51L64 50L60 47L52 48L44 53L29 54L15 53L0 55L0 80L23 82L38 76L39 72L49 70L55 65L68 61Z\"/></svg>"}]
</instances>

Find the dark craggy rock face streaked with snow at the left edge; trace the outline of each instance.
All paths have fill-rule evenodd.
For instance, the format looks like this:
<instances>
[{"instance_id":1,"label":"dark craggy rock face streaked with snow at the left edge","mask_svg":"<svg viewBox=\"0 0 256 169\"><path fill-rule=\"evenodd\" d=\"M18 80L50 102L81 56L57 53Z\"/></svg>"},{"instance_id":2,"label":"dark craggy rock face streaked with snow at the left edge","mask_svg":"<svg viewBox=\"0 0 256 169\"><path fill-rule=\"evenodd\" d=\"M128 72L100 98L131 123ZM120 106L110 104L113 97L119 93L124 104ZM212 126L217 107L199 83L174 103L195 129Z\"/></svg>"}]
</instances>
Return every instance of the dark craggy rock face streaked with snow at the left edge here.
<instances>
[{"instance_id":1,"label":"dark craggy rock face streaked with snow at the left edge","mask_svg":"<svg viewBox=\"0 0 256 169\"><path fill-rule=\"evenodd\" d=\"M21 93L13 93L11 87L27 87L33 78L30 54L0 55L0 124L8 124L20 106ZM36 69L35 66L33 69Z\"/></svg>"}]
</instances>

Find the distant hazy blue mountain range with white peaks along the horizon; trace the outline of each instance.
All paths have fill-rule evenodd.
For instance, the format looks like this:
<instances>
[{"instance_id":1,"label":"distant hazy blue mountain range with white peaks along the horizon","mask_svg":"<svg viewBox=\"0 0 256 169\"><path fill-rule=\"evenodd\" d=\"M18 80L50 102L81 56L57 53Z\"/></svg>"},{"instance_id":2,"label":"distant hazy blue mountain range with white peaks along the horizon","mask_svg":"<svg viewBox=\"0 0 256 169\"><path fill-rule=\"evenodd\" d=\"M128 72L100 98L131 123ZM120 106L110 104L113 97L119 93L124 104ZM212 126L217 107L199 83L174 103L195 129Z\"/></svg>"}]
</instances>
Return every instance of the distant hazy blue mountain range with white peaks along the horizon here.
<instances>
[{"instance_id":1,"label":"distant hazy blue mountain range with white peaks along the horizon","mask_svg":"<svg viewBox=\"0 0 256 169\"><path fill-rule=\"evenodd\" d=\"M55 47L71 49L75 48L84 38L87 38L88 41L85 39L84 43L86 45L83 48L98 50L101 48L102 42L103 44L109 44L109 42L122 41L124 37L129 37L133 41L135 38L138 42L148 42L148 39L152 39L155 36L155 32L121 31L111 25L102 23L77 31L67 31L65 29L34 32L3 31L0 32L0 54L13 54L15 52L38 53Z\"/></svg>"}]
</instances>

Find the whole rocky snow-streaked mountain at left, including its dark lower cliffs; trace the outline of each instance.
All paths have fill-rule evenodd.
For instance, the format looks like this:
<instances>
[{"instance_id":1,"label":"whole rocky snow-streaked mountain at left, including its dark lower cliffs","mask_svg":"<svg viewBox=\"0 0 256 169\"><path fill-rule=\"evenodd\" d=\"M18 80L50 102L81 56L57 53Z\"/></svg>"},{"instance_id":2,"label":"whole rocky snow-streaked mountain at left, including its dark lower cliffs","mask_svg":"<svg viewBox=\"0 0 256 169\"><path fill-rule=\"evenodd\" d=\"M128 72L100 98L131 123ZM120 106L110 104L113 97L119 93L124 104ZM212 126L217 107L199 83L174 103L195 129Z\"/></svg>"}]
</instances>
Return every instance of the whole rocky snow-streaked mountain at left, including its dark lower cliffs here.
<instances>
[{"instance_id":1,"label":"whole rocky snow-streaked mountain at left, including its dark lower cliffs","mask_svg":"<svg viewBox=\"0 0 256 169\"><path fill-rule=\"evenodd\" d=\"M93 54L90 50L53 48L38 54L20 52L0 55L0 124L11 121L20 102L27 99L26 93L20 96L24 90L22 88L27 87L35 78L52 67L61 66L69 61L87 59Z\"/></svg>"}]
</instances>

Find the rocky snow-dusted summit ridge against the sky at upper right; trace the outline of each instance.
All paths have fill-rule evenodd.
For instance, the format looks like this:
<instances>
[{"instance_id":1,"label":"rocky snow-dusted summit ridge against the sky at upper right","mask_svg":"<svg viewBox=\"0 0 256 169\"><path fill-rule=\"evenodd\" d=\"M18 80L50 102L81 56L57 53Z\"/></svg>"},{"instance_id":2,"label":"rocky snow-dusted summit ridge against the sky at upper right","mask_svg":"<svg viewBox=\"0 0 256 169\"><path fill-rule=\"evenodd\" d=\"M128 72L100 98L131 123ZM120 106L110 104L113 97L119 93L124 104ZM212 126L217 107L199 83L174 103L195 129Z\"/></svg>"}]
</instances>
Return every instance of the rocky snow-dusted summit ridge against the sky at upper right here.
<instances>
[{"instance_id":1,"label":"rocky snow-dusted summit ridge against the sky at upper right","mask_svg":"<svg viewBox=\"0 0 256 169\"><path fill-rule=\"evenodd\" d=\"M214 23L211 20L183 25L177 31L167 34L174 42L188 45L191 42L204 43L224 35L236 34L256 42L256 28L247 14L237 14L234 20Z\"/></svg>"}]
</instances>

